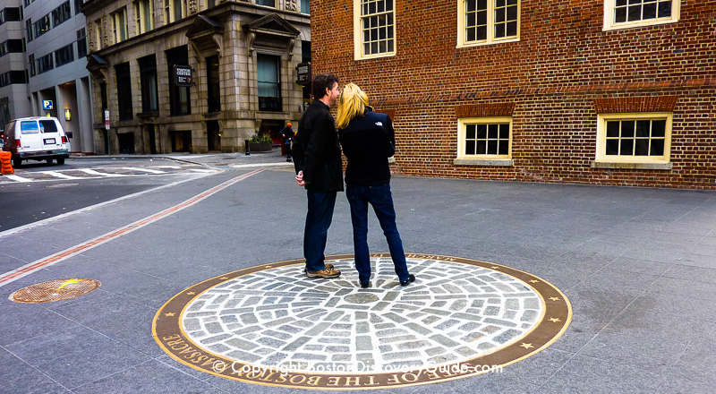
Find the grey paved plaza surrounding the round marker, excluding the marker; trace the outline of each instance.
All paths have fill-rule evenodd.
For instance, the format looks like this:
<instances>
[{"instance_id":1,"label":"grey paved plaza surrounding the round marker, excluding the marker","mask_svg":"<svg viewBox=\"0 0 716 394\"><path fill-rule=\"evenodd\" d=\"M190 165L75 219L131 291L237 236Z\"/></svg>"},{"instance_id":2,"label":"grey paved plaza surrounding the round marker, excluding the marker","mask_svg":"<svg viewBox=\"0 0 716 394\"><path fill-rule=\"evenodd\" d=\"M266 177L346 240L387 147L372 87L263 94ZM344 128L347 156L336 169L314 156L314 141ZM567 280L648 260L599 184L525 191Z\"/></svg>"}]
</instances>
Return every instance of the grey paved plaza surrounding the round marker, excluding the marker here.
<instances>
[{"instance_id":1,"label":"grey paved plaza surrounding the round marker, excluding the marker","mask_svg":"<svg viewBox=\"0 0 716 394\"><path fill-rule=\"evenodd\" d=\"M232 165L283 159L276 150L249 158L178 156L225 171L0 237L0 274L254 169ZM295 186L292 167L266 168L0 287L0 392L306 392L200 372L166 355L152 338L155 314L183 289L302 257L305 193ZM392 190L407 252L523 270L567 295L573 315L556 342L503 373L374 392L713 392L716 193L413 177L394 177ZM369 227L371 252L388 252L377 220ZM326 253L353 253L342 193ZM350 282L354 272L342 269ZM8 299L21 287L58 278L93 278L102 286L48 304Z\"/></svg>"}]
</instances>

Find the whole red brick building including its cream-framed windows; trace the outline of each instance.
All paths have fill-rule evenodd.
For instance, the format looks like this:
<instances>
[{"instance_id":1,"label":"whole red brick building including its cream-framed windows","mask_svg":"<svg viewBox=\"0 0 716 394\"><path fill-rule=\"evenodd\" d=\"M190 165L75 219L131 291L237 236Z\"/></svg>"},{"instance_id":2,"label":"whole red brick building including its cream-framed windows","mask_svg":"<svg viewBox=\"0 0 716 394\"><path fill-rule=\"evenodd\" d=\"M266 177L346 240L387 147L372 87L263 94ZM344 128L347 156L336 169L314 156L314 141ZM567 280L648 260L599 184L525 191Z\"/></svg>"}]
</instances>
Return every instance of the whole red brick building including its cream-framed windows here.
<instances>
[{"instance_id":1,"label":"whole red brick building including its cream-framed windows","mask_svg":"<svg viewBox=\"0 0 716 394\"><path fill-rule=\"evenodd\" d=\"M716 189L716 0L317 0L407 176Z\"/></svg>"}]
</instances>

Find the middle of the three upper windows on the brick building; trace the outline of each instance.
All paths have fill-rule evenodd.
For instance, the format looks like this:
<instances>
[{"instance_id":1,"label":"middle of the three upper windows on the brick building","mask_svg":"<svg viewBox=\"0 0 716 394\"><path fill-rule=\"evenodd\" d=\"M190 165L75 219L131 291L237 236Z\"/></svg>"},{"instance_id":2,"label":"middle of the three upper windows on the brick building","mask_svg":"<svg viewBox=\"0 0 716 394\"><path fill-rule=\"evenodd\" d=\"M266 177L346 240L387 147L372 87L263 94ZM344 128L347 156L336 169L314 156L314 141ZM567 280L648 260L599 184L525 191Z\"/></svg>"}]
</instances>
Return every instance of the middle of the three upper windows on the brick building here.
<instances>
[{"instance_id":1,"label":"middle of the three upper windows on the brick building","mask_svg":"<svg viewBox=\"0 0 716 394\"><path fill-rule=\"evenodd\" d=\"M520 39L520 0L458 0L457 47Z\"/></svg>"}]
</instances>

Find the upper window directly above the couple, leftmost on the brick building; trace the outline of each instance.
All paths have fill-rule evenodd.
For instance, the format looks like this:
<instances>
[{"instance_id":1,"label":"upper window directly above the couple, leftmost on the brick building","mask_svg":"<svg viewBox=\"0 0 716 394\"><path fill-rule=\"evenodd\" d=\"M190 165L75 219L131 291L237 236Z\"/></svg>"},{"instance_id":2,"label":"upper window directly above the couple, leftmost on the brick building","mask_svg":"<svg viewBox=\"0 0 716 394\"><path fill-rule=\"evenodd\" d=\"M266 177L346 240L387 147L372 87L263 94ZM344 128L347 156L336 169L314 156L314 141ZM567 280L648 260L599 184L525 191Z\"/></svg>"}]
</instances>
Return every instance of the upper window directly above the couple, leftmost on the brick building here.
<instances>
[{"instance_id":1,"label":"upper window directly above the couple, leftmost on the brick building","mask_svg":"<svg viewBox=\"0 0 716 394\"><path fill-rule=\"evenodd\" d=\"M355 59L396 54L394 0L354 0Z\"/></svg>"}]
</instances>

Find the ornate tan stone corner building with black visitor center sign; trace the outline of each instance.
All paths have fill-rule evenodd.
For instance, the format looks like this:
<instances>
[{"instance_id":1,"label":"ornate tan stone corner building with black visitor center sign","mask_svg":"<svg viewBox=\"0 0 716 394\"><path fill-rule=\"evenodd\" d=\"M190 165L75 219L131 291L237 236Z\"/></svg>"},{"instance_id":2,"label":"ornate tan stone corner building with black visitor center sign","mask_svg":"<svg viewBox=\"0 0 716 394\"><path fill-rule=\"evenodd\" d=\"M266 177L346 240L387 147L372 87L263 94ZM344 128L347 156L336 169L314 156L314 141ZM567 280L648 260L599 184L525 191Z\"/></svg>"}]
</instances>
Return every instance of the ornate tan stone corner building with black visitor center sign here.
<instances>
[{"instance_id":1,"label":"ornate tan stone corner building with black visitor center sign","mask_svg":"<svg viewBox=\"0 0 716 394\"><path fill-rule=\"evenodd\" d=\"M307 1L89 0L82 12L98 152L242 151L300 116ZM192 86L175 65L192 68Z\"/></svg>"}]
</instances>

